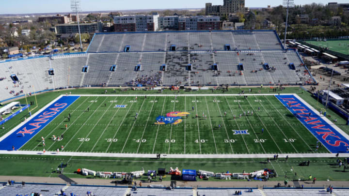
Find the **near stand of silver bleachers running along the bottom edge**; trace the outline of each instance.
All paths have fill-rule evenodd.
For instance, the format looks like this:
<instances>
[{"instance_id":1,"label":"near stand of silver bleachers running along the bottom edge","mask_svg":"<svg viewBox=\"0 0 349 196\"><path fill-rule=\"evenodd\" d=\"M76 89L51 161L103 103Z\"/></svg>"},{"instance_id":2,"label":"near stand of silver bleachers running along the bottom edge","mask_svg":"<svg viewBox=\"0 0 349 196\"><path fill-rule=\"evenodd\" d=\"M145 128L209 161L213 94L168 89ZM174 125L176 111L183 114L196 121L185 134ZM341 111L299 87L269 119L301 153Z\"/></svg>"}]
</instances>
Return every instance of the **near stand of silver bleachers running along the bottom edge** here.
<instances>
[{"instance_id":1,"label":"near stand of silver bleachers running along the bottom edge","mask_svg":"<svg viewBox=\"0 0 349 196\"><path fill-rule=\"evenodd\" d=\"M348 196L348 188L333 188L330 194L325 188L263 188L253 189L249 192L248 188L147 188L126 186L100 186L100 185L66 185L66 184L47 184L47 183L25 183L16 182L15 185L9 185L1 182L1 196L30 195L40 193L43 196L58 196L62 191L66 195L85 196L90 193L93 196L234 196L236 191L240 191L241 195L247 196L319 196L319 195L335 195Z\"/></svg>"}]
</instances>

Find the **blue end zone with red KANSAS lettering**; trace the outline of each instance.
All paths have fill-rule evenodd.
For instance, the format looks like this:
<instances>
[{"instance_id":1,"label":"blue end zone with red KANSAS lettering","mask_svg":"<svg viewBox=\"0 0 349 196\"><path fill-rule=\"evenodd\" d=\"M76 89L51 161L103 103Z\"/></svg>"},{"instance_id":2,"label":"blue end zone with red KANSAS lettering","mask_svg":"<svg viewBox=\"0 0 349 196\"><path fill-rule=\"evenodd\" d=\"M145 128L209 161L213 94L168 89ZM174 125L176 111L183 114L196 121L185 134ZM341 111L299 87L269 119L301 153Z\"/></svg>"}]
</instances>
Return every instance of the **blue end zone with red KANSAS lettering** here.
<instances>
[{"instance_id":1,"label":"blue end zone with red KANSAS lettering","mask_svg":"<svg viewBox=\"0 0 349 196\"><path fill-rule=\"evenodd\" d=\"M0 142L0 150L21 148L80 96L63 96ZM24 134L24 136L23 136Z\"/></svg>"}]
</instances>

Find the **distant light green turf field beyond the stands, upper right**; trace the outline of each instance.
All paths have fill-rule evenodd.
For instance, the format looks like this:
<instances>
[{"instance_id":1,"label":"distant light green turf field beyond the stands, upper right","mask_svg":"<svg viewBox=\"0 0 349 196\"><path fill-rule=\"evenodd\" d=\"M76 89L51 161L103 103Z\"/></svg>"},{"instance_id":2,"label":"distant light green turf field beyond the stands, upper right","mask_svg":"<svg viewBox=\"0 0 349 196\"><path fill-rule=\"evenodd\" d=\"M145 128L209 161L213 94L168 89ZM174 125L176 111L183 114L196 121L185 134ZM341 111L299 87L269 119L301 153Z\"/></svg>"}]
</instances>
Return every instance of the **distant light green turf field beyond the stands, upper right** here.
<instances>
[{"instance_id":1,"label":"distant light green turf field beyond the stands, upper right","mask_svg":"<svg viewBox=\"0 0 349 196\"><path fill-rule=\"evenodd\" d=\"M330 40L330 41L306 41L306 43L328 47L330 50L349 55L349 40Z\"/></svg>"}]
</instances>

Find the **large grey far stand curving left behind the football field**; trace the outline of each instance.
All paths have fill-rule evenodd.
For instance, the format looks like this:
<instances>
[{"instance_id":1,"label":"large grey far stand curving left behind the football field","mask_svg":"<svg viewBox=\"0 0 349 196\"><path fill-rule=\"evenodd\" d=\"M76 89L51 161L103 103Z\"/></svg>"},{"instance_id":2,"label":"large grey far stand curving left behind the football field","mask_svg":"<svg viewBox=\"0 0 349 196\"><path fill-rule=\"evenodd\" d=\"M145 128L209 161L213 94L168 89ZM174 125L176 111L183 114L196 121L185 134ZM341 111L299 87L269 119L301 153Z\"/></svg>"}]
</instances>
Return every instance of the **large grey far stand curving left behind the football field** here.
<instances>
[{"instance_id":1,"label":"large grey far stand curving left behind the football field","mask_svg":"<svg viewBox=\"0 0 349 196\"><path fill-rule=\"evenodd\" d=\"M270 30L96 33L87 53L0 61L0 78L5 78L0 89L7 91L0 100L84 86L316 83L302 63L295 50L283 50ZM166 70L161 70L164 64ZM82 72L84 66L87 72ZM48 74L50 69L54 75Z\"/></svg>"}]
</instances>

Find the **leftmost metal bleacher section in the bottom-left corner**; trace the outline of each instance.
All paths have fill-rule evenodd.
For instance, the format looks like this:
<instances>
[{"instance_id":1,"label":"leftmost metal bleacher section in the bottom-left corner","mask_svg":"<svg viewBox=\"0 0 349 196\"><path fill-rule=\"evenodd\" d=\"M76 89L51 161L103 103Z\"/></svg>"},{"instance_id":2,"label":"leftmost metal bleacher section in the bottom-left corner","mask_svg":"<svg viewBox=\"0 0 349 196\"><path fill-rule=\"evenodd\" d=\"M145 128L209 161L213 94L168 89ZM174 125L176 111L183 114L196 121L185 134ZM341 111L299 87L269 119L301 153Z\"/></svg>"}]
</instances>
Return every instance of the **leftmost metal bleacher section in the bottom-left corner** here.
<instances>
[{"instance_id":1,"label":"leftmost metal bleacher section in the bottom-left corner","mask_svg":"<svg viewBox=\"0 0 349 196\"><path fill-rule=\"evenodd\" d=\"M60 192L65 184L25 184L15 183L15 185L6 185L0 189L0 196L30 195L41 193L43 196L54 196Z\"/></svg>"}]
</instances>

